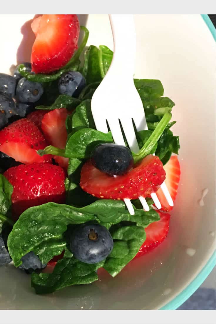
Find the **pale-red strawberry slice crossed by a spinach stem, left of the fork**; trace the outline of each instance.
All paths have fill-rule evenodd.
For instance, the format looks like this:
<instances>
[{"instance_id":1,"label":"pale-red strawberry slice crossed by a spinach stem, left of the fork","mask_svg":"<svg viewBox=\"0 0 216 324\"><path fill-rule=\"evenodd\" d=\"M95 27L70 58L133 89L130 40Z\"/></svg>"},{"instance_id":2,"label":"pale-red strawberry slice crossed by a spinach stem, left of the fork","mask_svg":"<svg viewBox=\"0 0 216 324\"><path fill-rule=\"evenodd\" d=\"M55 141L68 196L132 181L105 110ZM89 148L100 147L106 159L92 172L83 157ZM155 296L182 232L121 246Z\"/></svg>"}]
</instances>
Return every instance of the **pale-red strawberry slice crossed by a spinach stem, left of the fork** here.
<instances>
[{"instance_id":1,"label":"pale-red strawberry slice crossed by a spinach stem, left of the fork","mask_svg":"<svg viewBox=\"0 0 216 324\"><path fill-rule=\"evenodd\" d=\"M51 110L47 112L41 123L42 132L47 142L53 146L64 149L67 140L65 121L69 112L65 108ZM62 167L68 168L68 158L54 156L55 161Z\"/></svg>"}]
</instances>

